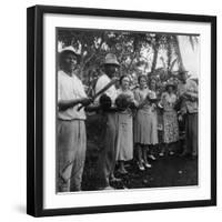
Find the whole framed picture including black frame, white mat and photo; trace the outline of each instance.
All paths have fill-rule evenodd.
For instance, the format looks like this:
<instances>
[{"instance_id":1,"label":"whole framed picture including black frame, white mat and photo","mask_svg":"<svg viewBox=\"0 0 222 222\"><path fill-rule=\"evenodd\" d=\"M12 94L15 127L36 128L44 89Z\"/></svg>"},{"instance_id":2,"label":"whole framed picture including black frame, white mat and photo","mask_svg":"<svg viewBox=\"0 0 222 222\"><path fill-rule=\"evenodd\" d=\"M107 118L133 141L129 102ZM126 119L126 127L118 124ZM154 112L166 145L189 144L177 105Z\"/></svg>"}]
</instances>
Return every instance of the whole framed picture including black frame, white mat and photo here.
<instances>
[{"instance_id":1,"label":"whole framed picture including black frame, white mat and photo","mask_svg":"<svg viewBox=\"0 0 222 222\"><path fill-rule=\"evenodd\" d=\"M214 205L215 61L214 17L28 9L28 213Z\"/></svg>"}]
</instances>

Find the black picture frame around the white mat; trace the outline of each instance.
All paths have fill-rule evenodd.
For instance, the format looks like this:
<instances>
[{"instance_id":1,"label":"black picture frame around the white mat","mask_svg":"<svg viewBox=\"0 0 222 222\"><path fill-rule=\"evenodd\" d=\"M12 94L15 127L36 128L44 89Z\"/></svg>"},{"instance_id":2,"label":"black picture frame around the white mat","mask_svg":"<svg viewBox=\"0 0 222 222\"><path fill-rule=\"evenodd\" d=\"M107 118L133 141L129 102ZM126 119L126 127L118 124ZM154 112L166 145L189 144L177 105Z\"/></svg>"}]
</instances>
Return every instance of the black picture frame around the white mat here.
<instances>
[{"instance_id":1,"label":"black picture frame around the white mat","mask_svg":"<svg viewBox=\"0 0 222 222\"><path fill-rule=\"evenodd\" d=\"M208 22L211 26L211 199L180 202L43 209L43 14ZM27 213L33 216L208 206L216 204L216 17L34 6L27 10Z\"/></svg>"}]
</instances>

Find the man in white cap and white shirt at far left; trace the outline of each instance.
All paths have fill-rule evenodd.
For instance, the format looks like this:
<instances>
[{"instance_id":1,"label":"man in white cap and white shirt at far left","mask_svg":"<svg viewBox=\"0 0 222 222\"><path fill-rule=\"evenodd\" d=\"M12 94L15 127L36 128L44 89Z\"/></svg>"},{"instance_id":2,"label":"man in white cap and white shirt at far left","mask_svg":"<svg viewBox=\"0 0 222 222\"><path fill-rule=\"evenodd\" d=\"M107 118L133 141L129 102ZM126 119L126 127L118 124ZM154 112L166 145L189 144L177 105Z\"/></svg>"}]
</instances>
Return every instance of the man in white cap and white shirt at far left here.
<instances>
[{"instance_id":1,"label":"man in white cap and white shirt at far left","mask_svg":"<svg viewBox=\"0 0 222 222\"><path fill-rule=\"evenodd\" d=\"M60 52L58 72L57 192L80 191L85 159L85 113L91 102L74 74L79 56L72 48Z\"/></svg>"}]
</instances>

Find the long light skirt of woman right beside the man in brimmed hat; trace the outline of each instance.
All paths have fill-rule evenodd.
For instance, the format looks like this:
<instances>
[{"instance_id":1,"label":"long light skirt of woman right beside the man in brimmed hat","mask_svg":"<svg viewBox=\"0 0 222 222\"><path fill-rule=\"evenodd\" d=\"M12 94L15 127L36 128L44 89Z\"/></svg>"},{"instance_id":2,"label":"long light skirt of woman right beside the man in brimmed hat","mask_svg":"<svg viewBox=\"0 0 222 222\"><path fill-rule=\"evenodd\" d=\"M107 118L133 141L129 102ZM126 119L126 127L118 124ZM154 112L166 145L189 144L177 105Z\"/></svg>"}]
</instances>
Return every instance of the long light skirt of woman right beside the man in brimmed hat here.
<instances>
[{"instance_id":1,"label":"long light skirt of woman right beside the man in brimmed hat","mask_svg":"<svg viewBox=\"0 0 222 222\"><path fill-rule=\"evenodd\" d=\"M132 132L132 114L118 113L118 142L117 142L117 160L128 161L133 158L133 132Z\"/></svg>"}]
</instances>

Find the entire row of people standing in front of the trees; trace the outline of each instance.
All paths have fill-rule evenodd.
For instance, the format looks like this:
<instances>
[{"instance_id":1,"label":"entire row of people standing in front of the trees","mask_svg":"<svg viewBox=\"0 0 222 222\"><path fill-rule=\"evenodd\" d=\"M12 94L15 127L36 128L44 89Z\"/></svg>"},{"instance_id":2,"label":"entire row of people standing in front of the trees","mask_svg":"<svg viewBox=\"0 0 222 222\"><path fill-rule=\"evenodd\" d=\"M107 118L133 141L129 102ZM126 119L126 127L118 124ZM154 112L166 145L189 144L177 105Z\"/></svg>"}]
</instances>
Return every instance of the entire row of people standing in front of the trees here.
<instances>
[{"instance_id":1,"label":"entire row of people standing in front of the trees","mask_svg":"<svg viewBox=\"0 0 222 222\"><path fill-rule=\"evenodd\" d=\"M60 52L58 72L58 122L57 122L57 191L81 191L85 160L85 107L105 117L104 144L98 160L98 189L112 189L117 164L119 172L127 174L124 162L134 159L138 168L151 168L149 158L155 160L153 147L160 142L159 155L173 154L170 144L179 141L179 120L185 121L186 143L181 155L198 155L198 85L180 71L180 84L168 82L164 92L158 92L154 83L148 84L147 75L139 75L138 87L131 88L130 78L115 79L120 67L117 57L108 53L103 72L95 84L95 100L84 92L74 70L78 54L72 48ZM115 79L115 81L113 81ZM115 82L119 81L119 89ZM105 89L105 90L104 90ZM102 92L100 94L100 92ZM160 138L162 125L162 138Z\"/></svg>"}]
</instances>

